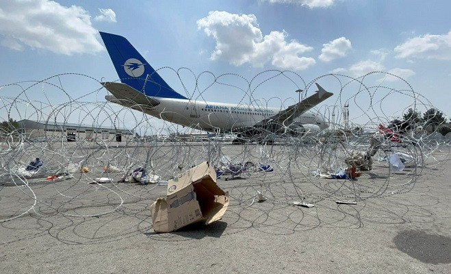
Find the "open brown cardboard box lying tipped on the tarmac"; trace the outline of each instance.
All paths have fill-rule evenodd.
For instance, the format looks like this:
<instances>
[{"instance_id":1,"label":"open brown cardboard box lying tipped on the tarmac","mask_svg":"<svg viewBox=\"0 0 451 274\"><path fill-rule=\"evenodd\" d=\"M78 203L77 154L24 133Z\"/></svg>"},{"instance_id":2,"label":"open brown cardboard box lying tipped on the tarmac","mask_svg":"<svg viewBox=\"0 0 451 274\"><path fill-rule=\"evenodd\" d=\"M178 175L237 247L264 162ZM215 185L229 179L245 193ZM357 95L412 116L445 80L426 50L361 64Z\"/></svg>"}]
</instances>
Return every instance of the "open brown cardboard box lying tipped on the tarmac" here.
<instances>
[{"instance_id":1,"label":"open brown cardboard box lying tipped on the tarmac","mask_svg":"<svg viewBox=\"0 0 451 274\"><path fill-rule=\"evenodd\" d=\"M221 219L229 206L229 192L216 184L216 172L203 162L168 181L166 198L152 206L155 232L172 232L191 223Z\"/></svg>"}]
</instances>

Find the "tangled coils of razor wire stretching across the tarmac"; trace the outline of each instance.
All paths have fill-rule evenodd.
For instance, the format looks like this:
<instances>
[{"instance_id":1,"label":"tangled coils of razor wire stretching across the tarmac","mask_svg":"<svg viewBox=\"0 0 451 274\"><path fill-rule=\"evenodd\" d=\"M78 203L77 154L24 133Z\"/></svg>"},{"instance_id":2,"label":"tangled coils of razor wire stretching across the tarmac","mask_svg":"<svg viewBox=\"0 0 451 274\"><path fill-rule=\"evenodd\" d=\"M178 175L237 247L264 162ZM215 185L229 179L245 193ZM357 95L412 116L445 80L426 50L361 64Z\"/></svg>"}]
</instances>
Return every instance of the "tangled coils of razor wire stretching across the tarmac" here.
<instances>
[{"instance_id":1,"label":"tangled coils of razor wire stretching across the tarmac","mask_svg":"<svg viewBox=\"0 0 451 274\"><path fill-rule=\"evenodd\" d=\"M263 71L247 80L233 73L216 77L209 71L195 75L188 68L163 69L177 75L190 99L208 101L214 88L229 88L238 105L253 108L275 104L283 110L301 100L301 94L298 100L283 98L280 93L268 96L274 81L302 90L302 98L314 91L314 83L326 82L335 88L331 90L334 97L312 112L329 126L321 131L278 135L259 129L258 140L232 145L233 138L242 132L242 124L231 125L230 132L218 129L216 136L193 135L198 125L181 127L138 111L144 112L146 105L134 104L132 110L106 102L101 81L88 75L64 73L42 81L3 85L0 222L26 214L86 218L149 211L149 205L166 193L164 182L204 161L223 173L218 185L230 192L231 207L245 210L261 197L285 206L294 201L359 203L409 192L421 182L424 166L440 166L450 157L450 134L428 134L425 130L430 125L437 127L435 121L389 127L409 109L437 109L407 81L390 73L374 71L358 78L328 74L306 83L292 71ZM194 86L184 83L183 71L193 77ZM211 79L201 88L204 77ZM386 82L387 77L399 81ZM94 88L81 93L67 88L77 82L92 83ZM190 103L187 108L191 108ZM218 114L196 115L212 121ZM160 115L187 114L165 110ZM24 120L40 122L44 129L23 132L14 121ZM64 127L127 134L120 142L101 131L89 139L75 134L69 142ZM36 158L41 165L35 169L30 162ZM396 166L399 162L404 168ZM155 184L124 182L140 167ZM105 184L99 178L106 178Z\"/></svg>"}]
</instances>

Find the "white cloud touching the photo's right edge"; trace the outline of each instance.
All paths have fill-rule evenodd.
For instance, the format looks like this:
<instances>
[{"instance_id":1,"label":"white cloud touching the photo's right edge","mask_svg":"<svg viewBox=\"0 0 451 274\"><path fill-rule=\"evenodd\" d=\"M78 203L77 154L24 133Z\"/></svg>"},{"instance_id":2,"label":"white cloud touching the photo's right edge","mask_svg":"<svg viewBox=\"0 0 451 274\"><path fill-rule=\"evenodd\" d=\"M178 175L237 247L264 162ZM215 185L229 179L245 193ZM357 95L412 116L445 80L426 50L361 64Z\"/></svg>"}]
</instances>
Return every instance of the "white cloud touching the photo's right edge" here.
<instances>
[{"instance_id":1,"label":"white cloud touching the photo's right edge","mask_svg":"<svg viewBox=\"0 0 451 274\"><path fill-rule=\"evenodd\" d=\"M451 31L448 34L426 34L411 38L395 47L396 58L451 60Z\"/></svg>"}]
</instances>

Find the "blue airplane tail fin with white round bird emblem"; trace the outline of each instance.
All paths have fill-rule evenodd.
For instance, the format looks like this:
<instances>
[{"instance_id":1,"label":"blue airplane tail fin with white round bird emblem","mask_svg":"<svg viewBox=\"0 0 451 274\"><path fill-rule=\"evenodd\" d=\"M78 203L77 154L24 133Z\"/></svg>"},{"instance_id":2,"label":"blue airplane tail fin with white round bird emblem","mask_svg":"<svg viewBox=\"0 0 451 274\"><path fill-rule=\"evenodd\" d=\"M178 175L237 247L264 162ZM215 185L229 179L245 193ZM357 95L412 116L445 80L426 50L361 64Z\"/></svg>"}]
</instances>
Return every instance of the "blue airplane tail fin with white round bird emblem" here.
<instances>
[{"instance_id":1,"label":"blue airplane tail fin with white round bird emblem","mask_svg":"<svg viewBox=\"0 0 451 274\"><path fill-rule=\"evenodd\" d=\"M175 92L123 36L100 32L120 82L151 97L187 99Z\"/></svg>"}]
</instances>

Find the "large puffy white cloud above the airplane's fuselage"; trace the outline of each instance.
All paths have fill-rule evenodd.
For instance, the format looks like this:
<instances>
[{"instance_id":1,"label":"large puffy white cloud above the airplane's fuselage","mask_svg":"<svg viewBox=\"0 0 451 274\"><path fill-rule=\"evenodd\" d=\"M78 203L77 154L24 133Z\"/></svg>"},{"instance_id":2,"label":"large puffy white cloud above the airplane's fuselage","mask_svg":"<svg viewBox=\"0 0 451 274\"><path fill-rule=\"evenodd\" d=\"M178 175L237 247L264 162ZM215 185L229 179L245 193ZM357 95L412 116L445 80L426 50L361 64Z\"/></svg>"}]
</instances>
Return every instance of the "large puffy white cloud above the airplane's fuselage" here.
<instances>
[{"instance_id":1,"label":"large puffy white cloud above the airplane's fuselage","mask_svg":"<svg viewBox=\"0 0 451 274\"><path fill-rule=\"evenodd\" d=\"M226 60L235 66L249 63L263 66L271 62L281 69L302 70L315 64L313 58L300 56L313 48L291 40L287 33L270 32L263 37L254 14L231 14L229 12L209 12L197 21L198 29L216 40L216 49L211 60Z\"/></svg>"}]
</instances>

